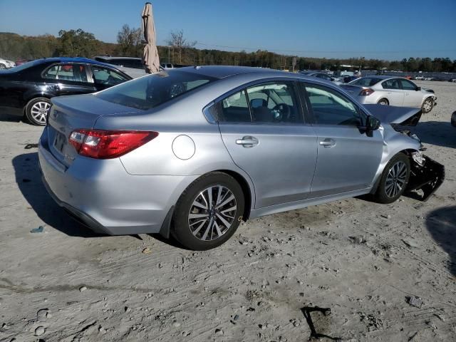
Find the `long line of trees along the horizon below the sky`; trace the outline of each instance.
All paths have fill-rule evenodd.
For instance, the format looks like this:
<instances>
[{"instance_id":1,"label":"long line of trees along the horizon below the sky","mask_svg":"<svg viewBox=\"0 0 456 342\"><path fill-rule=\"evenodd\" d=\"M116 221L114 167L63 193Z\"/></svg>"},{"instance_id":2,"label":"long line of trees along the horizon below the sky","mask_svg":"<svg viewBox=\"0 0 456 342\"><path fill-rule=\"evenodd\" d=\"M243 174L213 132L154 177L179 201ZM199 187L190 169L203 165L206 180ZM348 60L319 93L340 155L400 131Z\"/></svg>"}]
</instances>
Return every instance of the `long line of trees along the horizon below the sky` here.
<instances>
[{"instance_id":1,"label":"long line of trees along the horizon below the sky","mask_svg":"<svg viewBox=\"0 0 456 342\"><path fill-rule=\"evenodd\" d=\"M157 46L160 61L183 65L230 65L256 66L291 70L340 70L342 65L362 66L363 69L401 70L407 72L456 72L456 60L450 58L404 58L401 61L356 58L311 58L286 56L266 50L254 52L221 51L195 48L196 41L188 41L183 31L170 33L167 46ZM140 28L124 25L118 32L117 43L105 43L93 33L77 30L61 30L58 37L50 34L20 36L16 33L0 33L0 57L13 61L53 56L81 56L93 58L98 55L142 56Z\"/></svg>"}]
</instances>

